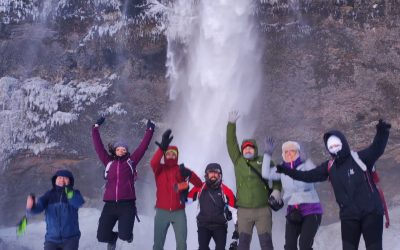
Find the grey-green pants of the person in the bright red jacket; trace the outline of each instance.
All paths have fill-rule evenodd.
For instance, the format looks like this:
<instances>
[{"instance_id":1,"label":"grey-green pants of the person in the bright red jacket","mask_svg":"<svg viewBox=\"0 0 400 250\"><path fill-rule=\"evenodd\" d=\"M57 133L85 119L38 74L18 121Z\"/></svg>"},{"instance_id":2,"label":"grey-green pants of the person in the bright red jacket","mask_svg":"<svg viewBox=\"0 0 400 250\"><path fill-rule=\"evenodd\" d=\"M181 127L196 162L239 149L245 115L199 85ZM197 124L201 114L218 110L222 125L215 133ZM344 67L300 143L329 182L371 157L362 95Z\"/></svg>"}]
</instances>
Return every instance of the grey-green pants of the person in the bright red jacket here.
<instances>
[{"instance_id":1,"label":"grey-green pants of the person in the bright red jacket","mask_svg":"<svg viewBox=\"0 0 400 250\"><path fill-rule=\"evenodd\" d=\"M172 224L175 232L176 249L186 250L187 224L185 209L168 211L156 208L154 218L153 250L163 250L168 227Z\"/></svg>"}]
</instances>

